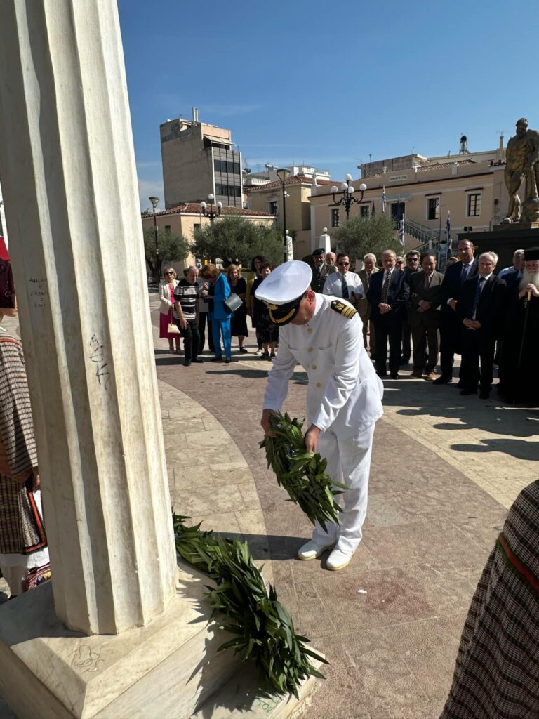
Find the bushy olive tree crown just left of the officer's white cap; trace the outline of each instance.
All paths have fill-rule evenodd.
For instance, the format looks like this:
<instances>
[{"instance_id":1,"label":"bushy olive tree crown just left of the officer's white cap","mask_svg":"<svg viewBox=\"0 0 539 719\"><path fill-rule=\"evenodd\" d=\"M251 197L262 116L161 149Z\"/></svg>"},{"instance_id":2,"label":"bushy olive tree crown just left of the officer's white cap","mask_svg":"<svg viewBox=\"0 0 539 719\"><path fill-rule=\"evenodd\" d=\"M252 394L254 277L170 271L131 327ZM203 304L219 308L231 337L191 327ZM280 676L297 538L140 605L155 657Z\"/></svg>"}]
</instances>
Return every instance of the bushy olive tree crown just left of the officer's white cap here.
<instances>
[{"instance_id":1,"label":"bushy olive tree crown just left of the officer's white cap","mask_svg":"<svg viewBox=\"0 0 539 719\"><path fill-rule=\"evenodd\" d=\"M193 252L201 260L214 262L220 257L225 267L241 262L250 269L254 255L264 255L278 265L282 262L282 235L243 217L222 217L195 230Z\"/></svg>"}]
</instances>

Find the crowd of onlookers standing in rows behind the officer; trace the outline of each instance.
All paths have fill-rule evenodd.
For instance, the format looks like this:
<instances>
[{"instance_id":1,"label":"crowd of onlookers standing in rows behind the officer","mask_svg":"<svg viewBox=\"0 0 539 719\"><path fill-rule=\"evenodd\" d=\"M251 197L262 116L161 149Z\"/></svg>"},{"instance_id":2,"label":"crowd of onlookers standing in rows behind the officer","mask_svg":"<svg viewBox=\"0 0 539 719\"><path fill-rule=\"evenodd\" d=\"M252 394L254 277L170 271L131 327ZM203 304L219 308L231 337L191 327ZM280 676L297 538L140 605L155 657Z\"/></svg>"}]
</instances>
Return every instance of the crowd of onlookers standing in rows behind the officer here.
<instances>
[{"instance_id":1,"label":"crowd of onlookers standing in rows behind the officer","mask_svg":"<svg viewBox=\"0 0 539 719\"><path fill-rule=\"evenodd\" d=\"M437 270L437 256L431 252L410 250L398 257L387 249L380 260L369 252L356 273L346 252L326 254L318 248L310 258L310 289L343 298L356 308L364 346L379 377L400 379L401 368L411 360L412 379L452 383L454 357L460 354L456 386L462 395L479 390L480 398L489 398L497 365L502 399L538 403L527 380L539 323L539 249L517 249L513 264L499 273L496 253L476 257L469 239L459 242L457 256L449 258L444 273ZM257 339L254 354L271 362L279 328L256 297L271 272L262 255L253 258L247 280L238 265L229 265L226 272L212 264L200 273L188 267L182 280L172 267L165 267L160 337L168 340L170 352L181 352L183 337L184 365L203 362L207 327L211 362L231 362L233 337L238 338L239 353L249 352L245 341L250 317ZM236 297L234 311L228 306L231 296Z\"/></svg>"}]
</instances>

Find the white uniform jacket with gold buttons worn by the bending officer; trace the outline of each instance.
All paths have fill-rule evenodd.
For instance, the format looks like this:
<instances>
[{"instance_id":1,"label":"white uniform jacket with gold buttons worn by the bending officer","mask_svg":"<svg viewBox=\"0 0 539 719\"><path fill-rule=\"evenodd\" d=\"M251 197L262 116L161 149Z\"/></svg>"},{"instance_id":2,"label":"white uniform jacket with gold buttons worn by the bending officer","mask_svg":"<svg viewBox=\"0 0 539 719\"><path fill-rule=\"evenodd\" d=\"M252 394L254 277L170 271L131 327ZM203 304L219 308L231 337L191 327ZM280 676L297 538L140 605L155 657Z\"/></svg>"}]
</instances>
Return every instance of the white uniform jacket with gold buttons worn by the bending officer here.
<instances>
[{"instance_id":1,"label":"white uniform jacket with gold buttons worn by the bending officer","mask_svg":"<svg viewBox=\"0 0 539 719\"><path fill-rule=\"evenodd\" d=\"M383 385L367 357L359 314L331 308L335 298L316 294L308 324L279 329L279 353L267 379L264 409L280 411L297 362L307 372L307 423L339 439L360 434L382 416ZM351 307L346 300L338 300Z\"/></svg>"}]
</instances>

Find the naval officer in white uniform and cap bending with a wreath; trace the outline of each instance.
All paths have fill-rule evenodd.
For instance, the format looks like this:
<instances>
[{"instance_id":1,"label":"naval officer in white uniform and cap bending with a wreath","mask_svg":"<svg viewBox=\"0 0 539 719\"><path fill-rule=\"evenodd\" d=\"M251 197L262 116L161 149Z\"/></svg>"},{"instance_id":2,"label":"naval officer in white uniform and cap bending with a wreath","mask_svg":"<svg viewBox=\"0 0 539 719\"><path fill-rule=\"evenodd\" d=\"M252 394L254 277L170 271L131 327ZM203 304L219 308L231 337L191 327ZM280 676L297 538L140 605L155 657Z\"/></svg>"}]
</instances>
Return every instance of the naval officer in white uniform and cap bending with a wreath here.
<instances>
[{"instance_id":1,"label":"naval officer in white uniform and cap bending with a wreath","mask_svg":"<svg viewBox=\"0 0 539 719\"><path fill-rule=\"evenodd\" d=\"M298 551L315 559L333 548L328 569L349 564L361 541L374 424L382 416L383 385L363 344L359 314L344 299L310 289L309 265L297 260L279 265L259 285L256 296L267 303L279 326L279 354L267 379L262 427L280 411L296 363L308 374L305 446L328 460L326 472L348 488L341 496L340 525L317 523L313 539Z\"/></svg>"}]
</instances>

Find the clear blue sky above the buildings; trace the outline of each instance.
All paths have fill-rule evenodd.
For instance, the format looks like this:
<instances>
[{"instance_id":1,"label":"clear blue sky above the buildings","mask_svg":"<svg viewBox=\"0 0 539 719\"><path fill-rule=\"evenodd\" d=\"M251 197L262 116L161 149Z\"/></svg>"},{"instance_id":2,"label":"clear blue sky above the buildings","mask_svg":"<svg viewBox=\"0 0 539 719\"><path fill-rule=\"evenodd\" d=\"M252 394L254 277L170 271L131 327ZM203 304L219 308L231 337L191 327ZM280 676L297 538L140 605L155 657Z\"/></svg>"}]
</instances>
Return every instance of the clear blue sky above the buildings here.
<instances>
[{"instance_id":1,"label":"clear blue sky above the buildings","mask_svg":"<svg viewBox=\"0 0 539 719\"><path fill-rule=\"evenodd\" d=\"M119 0L142 209L162 198L159 126L228 127L244 164L336 180L396 155L497 147L539 128L536 0ZM530 66L527 72L526 66ZM163 203L161 203L163 205Z\"/></svg>"}]
</instances>

